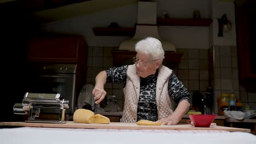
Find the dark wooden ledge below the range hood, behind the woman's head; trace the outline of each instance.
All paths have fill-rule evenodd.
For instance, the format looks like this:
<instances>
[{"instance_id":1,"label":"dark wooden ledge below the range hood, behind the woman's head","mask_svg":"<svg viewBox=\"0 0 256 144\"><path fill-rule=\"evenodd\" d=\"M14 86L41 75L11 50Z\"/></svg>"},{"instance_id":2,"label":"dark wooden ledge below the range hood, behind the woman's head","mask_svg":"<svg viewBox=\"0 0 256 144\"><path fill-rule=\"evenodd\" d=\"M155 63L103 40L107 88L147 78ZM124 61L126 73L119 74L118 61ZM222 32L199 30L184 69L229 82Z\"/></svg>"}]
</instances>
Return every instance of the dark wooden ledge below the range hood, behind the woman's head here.
<instances>
[{"instance_id":1,"label":"dark wooden ledge below the range hood, behind the woman's head","mask_svg":"<svg viewBox=\"0 0 256 144\"><path fill-rule=\"evenodd\" d=\"M132 57L136 56L136 51L112 51L114 65L119 67L122 65L123 61L131 60ZM171 62L171 66L175 67L179 62L181 62L182 52L170 52L165 51L165 61Z\"/></svg>"}]
</instances>

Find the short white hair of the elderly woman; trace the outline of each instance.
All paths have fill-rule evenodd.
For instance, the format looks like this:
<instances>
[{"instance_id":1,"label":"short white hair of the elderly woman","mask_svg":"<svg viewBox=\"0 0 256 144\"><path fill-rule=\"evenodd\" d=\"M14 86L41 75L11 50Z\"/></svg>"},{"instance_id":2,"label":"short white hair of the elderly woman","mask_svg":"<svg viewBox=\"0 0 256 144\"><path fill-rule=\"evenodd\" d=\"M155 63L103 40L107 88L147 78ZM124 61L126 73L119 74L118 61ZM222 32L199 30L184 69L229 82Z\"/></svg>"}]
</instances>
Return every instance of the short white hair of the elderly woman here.
<instances>
[{"instance_id":1,"label":"short white hair of the elderly woman","mask_svg":"<svg viewBox=\"0 0 256 144\"><path fill-rule=\"evenodd\" d=\"M153 60L161 59L161 62L165 58L165 51L162 49L161 41L153 37L147 37L139 40L135 44L135 51L146 53L152 57Z\"/></svg>"}]
</instances>

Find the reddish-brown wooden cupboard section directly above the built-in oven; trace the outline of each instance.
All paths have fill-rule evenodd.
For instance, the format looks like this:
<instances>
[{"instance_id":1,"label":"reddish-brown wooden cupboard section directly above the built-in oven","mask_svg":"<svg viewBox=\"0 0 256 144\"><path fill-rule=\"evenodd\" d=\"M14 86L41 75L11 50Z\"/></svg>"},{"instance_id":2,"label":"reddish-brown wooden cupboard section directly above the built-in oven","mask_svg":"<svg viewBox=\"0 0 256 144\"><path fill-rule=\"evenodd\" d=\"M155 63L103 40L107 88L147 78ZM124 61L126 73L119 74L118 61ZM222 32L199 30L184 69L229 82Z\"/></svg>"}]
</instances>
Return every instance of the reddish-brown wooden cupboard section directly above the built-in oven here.
<instances>
[{"instance_id":1,"label":"reddish-brown wooden cupboard section directly above the built-in oven","mask_svg":"<svg viewBox=\"0 0 256 144\"><path fill-rule=\"evenodd\" d=\"M81 35L48 35L35 37L28 46L28 61L78 62L86 57L86 47Z\"/></svg>"}]
</instances>

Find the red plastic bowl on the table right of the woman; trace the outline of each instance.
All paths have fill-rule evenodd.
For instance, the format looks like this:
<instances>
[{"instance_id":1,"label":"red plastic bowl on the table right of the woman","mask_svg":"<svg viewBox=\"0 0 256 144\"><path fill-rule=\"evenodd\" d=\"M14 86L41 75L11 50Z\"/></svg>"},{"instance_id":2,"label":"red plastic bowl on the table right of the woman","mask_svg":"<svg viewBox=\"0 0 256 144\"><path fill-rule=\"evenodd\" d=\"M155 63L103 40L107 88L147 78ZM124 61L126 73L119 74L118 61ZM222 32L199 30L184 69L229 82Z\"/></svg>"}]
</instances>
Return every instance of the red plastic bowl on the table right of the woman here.
<instances>
[{"instance_id":1,"label":"red plastic bowl on the table right of the woman","mask_svg":"<svg viewBox=\"0 0 256 144\"><path fill-rule=\"evenodd\" d=\"M218 115L188 115L195 127L210 127Z\"/></svg>"}]
</instances>

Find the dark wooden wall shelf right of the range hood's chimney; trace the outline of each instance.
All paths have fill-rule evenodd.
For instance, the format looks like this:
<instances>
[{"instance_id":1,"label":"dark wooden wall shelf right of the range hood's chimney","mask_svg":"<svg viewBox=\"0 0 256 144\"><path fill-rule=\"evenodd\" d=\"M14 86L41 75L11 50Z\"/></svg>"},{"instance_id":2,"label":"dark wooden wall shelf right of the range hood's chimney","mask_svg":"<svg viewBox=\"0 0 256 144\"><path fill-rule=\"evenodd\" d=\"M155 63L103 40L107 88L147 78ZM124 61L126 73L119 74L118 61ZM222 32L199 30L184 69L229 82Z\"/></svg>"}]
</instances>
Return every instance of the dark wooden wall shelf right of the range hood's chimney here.
<instances>
[{"instance_id":1,"label":"dark wooden wall shelf right of the range hood's chimney","mask_svg":"<svg viewBox=\"0 0 256 144\"><path fill-rule=\"evenodd\" d=\"M159 26L200 26L207 27L212 23L212 19L162 19L157 18Z\"/></svg>"}]
</instances>

